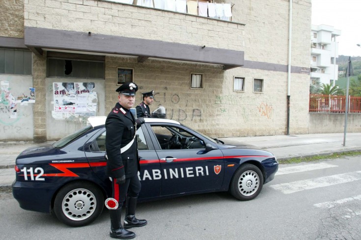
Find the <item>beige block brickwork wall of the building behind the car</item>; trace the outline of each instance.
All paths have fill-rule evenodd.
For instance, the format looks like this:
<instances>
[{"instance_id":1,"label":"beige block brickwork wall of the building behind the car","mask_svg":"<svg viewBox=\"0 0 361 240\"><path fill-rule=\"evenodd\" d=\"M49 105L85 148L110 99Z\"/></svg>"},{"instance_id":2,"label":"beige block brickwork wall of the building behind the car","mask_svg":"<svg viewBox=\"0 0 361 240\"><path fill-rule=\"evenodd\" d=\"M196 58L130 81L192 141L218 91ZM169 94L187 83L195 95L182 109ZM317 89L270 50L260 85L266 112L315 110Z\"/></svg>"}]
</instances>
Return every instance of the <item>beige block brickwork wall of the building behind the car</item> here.
<instances>
[{"instance_id":1,"label":"beige block brickwork wall of the building behind the car","mask_svg":"<svg viewBox=\"0 0 361 240\"><path fill-rule=\"evenodd\" d=\"M155 90L151 109L163 105L168 118L212 137L285 134L289 1L232 4L232 22L225 22L105 0L26 0L24 25L244 51L245 66L227 71L219 65L107 56L105 114L117 101L116 69L124 67L134 69L139 92ZM310 0L293 2L292 67L309 69L310 10ZM204 74L204 89L190 89L191 73ZM245 92L233 91L234 76L245 77ZM33 78L41 96L34 104L34 140L44 141L51 118L45 110L46 51L33 55ZM253 78L264 79L264 93L253 93ZM293 71L290 79L290 133L307 133L309 75Z\"/></svg>"}]
</instances>

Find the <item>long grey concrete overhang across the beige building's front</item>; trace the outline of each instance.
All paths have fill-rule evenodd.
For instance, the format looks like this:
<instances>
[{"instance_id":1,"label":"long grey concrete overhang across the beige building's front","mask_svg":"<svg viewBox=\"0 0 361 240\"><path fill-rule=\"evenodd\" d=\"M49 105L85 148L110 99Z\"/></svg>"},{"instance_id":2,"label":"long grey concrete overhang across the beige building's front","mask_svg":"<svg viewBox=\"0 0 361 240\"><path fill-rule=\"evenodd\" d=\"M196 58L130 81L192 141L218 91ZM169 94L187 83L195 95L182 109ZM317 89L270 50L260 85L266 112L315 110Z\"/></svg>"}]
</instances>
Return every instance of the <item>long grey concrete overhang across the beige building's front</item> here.
<instances>
[{"instance_id":1,"label":"long grey concrete overhang across the beige building's front","mask_svg":"<svg viewBox=\"0 0 361 240\"><path fill-rule=\"evenodd\" d=\"M137 56L139 63L159 58L217 64L223 70L244 65L244 51L39 27L25 27L25 45L37 55L52 49Z\"/></svg>"}]
</instances>

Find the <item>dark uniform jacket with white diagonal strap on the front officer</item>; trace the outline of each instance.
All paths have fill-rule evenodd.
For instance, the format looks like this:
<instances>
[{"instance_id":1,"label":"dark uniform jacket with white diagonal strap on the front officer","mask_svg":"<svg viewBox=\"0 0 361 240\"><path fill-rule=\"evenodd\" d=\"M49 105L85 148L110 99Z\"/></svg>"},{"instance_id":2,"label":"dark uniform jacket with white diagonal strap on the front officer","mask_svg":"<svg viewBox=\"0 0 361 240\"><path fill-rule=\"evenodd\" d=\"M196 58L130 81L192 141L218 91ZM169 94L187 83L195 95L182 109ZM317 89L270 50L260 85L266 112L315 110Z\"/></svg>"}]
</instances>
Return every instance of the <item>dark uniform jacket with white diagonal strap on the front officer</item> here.
<instances>
[{"instance_id":1,"label":"dark uniform jacket with white diagonal strap on the front officer","mask_svg":"<svg viewBox=\"0 0 361 240\"><path fill-rule=\"evenodd\" d=\"M119 178L125 174L126 178L138 175L140 170L137 139L124 151L120 149L129 144L135 136L136 122L131 112L119 103L109 113L105 122L107 175Z\"/></svg>"}]
</instances>

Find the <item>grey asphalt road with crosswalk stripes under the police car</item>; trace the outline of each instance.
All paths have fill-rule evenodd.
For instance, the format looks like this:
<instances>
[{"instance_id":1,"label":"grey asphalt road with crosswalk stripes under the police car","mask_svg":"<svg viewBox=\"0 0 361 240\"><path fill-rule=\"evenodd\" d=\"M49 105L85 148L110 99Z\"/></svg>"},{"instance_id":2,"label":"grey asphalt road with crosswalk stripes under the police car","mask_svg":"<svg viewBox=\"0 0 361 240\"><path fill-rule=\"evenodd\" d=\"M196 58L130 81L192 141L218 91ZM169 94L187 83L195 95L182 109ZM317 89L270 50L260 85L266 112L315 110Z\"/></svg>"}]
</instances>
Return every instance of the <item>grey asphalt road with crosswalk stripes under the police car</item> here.
<instances>
[{"instance_id":1,"label":"grey asphalt road with crosswalk stripes under the police car","mask_svg":"<svg viewBox=\"0 0 361 240\"><path fill-rule=\"evenodd\" d=\"M137 240L361 239L361 156L280 165L254 200L226 192L140 203ZM22 210L0 193L2 239L110 239L108 211L91 225L71 228L55 216Z\"/></svg>"}]
</instances>

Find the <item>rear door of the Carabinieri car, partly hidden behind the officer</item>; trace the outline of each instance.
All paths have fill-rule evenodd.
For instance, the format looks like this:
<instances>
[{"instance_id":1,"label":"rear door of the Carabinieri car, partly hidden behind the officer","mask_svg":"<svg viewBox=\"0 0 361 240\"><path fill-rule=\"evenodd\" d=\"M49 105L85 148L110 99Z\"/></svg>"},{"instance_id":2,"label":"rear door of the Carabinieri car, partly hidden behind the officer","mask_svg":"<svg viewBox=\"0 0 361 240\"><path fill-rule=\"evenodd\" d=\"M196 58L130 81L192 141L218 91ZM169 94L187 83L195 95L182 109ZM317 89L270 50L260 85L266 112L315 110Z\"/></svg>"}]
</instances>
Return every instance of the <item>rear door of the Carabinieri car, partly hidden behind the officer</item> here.
<instances>
[{"instance_id":1,"label":"rear door of the Carabinieri car, partly hidden behind the officer","mask_svg":"<svg viewBox=\"0 0 361 240\"><path fill-rule=\"evenodd\" d=\"M88 144L85 144L84 150L90 167L103 182L107 183L106 188L111 192L111 183L109 177L106 176L107 162L104 157L106 153L106 134L104 127L98 135L88 141ZM140 172L138 172L138 175L141 191L139 199L157 197L161 192L161 179L157 177L157 173L161 171L158 156L147 132L144 134L142 128L139 127L136 135L140 159Z\"/></svg>"}]
</instances>

